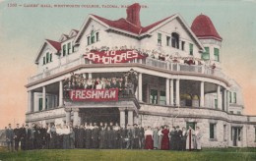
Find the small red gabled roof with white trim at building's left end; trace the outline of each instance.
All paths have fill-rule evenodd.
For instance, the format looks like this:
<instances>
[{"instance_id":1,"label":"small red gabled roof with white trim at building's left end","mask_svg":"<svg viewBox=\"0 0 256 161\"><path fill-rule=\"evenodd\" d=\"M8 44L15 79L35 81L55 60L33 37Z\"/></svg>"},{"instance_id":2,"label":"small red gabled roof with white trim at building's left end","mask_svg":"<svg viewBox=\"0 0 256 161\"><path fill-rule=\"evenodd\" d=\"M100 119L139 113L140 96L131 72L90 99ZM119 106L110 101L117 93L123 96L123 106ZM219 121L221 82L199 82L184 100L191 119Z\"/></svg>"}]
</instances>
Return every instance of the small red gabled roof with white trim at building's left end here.
<instances>
[{"instance_id":1,"label":"small red gabled roof with white trim at building's left end","mask_svg":"<svg viewBox=\"0 0 256 161\"><path fill-rule=\"evenodd\" d=\"M35 64L38 64L38 60L41 56L41 53L43 51L43 49L49 45L53 51L55 52L55 54L57 54L60 50L61 50L61 43L60 42L57 42L57 41L53 41L53 40L50 40L50 39L45 39L45 41L43 42L43 44L41 45L39 51L38 51L38 54L34 60L34 63Z\"/></svg>"}]
</instances>

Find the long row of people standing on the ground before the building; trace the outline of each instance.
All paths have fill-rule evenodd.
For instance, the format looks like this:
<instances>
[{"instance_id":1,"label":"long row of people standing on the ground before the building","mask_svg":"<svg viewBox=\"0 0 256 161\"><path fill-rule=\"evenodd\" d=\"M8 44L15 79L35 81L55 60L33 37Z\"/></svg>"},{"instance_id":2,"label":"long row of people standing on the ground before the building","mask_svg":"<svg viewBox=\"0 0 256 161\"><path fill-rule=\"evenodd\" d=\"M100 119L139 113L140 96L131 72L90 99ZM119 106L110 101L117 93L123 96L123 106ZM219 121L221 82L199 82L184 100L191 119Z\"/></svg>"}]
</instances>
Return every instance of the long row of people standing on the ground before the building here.
<instances>
[{"instance_id":1,"label":"long row of people standing on the ground before the building","mask_svg":"<svg viewBox=\"0 0 256 161\"><path fill-rule=\"evenodd\" d=\"M160 149L192 150L201 149L203 134L197 127L193 130L168 126L157 128L141 125L119 126L117 123L85 123L81 126L32 124L13 130L11 124L6 128L8 149L18 151L33 149Z\"/></svg>"}]
</instances>

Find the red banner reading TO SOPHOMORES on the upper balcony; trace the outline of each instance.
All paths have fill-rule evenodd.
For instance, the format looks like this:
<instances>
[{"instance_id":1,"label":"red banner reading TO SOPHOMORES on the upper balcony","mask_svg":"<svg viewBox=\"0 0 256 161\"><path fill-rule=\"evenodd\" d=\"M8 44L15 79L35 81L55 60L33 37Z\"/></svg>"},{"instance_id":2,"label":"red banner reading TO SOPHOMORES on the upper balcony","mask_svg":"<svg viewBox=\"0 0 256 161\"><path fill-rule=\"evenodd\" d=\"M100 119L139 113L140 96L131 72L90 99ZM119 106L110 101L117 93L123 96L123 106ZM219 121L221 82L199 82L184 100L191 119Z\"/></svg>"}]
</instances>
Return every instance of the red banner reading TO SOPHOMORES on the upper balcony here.
<instances>
[{"instance_id":1,"label":"red banner reading TO SOPHOMORES on the upper balcony","mask_svg":"<svg viewBox=\"0 0 256 161\"><path fill-rule=\"evenodd\" d=\"M126 63L133 59L143 59L146 57L146 55L137 50L91 50L91 52L84 54L85 59L97 64Z\"/></svg>"}]
</instances>

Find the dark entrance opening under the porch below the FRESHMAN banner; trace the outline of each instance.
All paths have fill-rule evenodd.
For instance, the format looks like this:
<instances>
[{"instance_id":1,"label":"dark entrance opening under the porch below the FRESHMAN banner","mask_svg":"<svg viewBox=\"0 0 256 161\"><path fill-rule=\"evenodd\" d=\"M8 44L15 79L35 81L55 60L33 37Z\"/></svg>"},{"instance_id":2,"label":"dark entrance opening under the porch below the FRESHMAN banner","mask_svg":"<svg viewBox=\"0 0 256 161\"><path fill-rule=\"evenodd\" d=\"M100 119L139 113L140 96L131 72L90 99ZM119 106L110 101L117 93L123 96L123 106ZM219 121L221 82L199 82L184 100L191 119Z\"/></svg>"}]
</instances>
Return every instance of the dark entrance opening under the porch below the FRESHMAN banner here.
<instances>
[{"instance_id":1,"label":"dark entrance opening under the porch below the FRESHMAN banner","mask_svg":"<svg viewBox=\"0 0 256 161\"><path fill-rule=\"evenodd\" d=\"M81 122L84 123L96 123L100 122L109 124L112 122L120 123L120 112L118 108L86 108L81 109Z\"/></svg>"}]
</instances>

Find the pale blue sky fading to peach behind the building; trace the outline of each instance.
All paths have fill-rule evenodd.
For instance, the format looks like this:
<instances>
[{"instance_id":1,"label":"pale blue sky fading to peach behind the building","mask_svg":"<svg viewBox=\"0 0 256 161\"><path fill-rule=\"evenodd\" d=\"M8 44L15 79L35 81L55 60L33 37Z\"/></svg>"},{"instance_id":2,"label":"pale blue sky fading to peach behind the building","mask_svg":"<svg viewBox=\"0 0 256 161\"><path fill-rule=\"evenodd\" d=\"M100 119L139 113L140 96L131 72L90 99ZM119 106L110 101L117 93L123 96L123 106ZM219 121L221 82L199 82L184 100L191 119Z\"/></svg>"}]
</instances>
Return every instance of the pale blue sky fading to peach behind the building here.
<instances>
[{"instance_id":1,"label":"pale blue sky fading to peach behind the building","mask_svg":"<svg viewBox=\"0 0 256 161\"><path fill-rule=\"evenodd\" d=\"M120 7L136 2L147 6L140 12L144 27L175 13L189 27L198 15L209 16L224 39L221 49L224 73L242 87L244 114L256 115L256 0L0 0L0 129L8 123L25 123L28 107L25 85L36 74L33 62L44 39L58 40L62 33L80 29L89 14L109 20L126 18L125 8L102 5ZM26 7L32 4L101 8Z\"/></svg>"}]
</instances>

